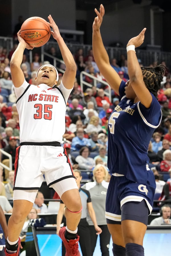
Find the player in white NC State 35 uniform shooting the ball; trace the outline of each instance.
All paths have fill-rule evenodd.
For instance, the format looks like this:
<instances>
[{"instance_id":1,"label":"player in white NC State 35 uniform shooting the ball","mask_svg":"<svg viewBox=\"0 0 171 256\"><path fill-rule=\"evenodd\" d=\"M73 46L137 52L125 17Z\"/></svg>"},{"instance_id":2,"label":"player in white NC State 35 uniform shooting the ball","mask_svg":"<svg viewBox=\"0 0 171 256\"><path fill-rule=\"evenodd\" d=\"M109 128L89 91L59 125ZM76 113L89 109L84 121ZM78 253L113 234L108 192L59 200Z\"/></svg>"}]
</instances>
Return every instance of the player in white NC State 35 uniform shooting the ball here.
<instances>
[{"instance_id":1,"label":"player in white NC State 35 uniform shooting the ball","mask_svg":"<svg viewBox=\"0 0 171 256\"><path fill-rule=\"evenodd\" d=\"M8 221L5 255L19 255L19 234L32 209L36 194L45 175L48 187L54 188L66 205L66 228L59 235L66 255L80 255L77 226L81 217L81 199L66 151L61 147L65 132L66 102L74 86L76 64L60 35L52 16L52 36L58 42L66 71L57 88L58 72L52 65L43 65L37 72L38 86L25 81L20 68L25 48L32 49L18 32L19 44L12 55L10 67L20 121L20 143L15 159L13 213Z\"/></svg>"}]
</instances>

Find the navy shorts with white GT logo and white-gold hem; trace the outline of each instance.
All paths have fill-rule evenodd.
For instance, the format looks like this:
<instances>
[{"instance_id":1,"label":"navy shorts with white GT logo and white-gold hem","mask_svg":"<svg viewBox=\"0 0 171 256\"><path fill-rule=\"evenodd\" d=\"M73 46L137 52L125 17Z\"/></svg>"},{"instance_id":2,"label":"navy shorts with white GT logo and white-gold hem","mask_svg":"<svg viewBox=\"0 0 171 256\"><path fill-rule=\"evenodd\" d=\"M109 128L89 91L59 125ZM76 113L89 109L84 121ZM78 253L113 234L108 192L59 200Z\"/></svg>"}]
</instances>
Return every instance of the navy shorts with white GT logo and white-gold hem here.
<instances>
[{"instance_id":1,"label":"navy shorts with white GT logo and white-gold hem","mask_svg":"<svg viewBox=\"0 0 171 256\"><path fill-rule=\"evenodd\" d=\"M150 214L155 188L154 174L151 171L148 171L146 184L131 181L125 176L112 175L106 195L105 217L107 223L116 224L116 222L121 222L121 208L127 202L141 202L145 200L149 209L148 213Z\"/></svg>"}]
</instances>

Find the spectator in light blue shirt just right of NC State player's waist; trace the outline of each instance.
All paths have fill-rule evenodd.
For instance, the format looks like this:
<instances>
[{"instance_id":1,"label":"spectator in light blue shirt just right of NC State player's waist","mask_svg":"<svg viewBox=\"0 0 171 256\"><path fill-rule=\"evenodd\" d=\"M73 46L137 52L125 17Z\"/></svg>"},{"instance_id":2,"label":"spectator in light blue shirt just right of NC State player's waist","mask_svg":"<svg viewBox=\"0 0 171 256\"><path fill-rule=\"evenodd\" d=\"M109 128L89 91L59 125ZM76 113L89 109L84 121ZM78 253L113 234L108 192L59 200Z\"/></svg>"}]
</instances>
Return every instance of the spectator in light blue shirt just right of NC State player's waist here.
<instances>
[{"instance_id":1,"label":"spectator in light blue shirt just right of NC State player's waist","mask_svg":"<svg viewBox=\"0 0 171 256\"><path fill-rule=\"evenodd\" d=\"M84 129L80 127L76 131L76 137L72 139L71 149L72 151L79 151L83 146L87 146L91 150L89 139L84 138Z\"/></svg>"}]
</instances>

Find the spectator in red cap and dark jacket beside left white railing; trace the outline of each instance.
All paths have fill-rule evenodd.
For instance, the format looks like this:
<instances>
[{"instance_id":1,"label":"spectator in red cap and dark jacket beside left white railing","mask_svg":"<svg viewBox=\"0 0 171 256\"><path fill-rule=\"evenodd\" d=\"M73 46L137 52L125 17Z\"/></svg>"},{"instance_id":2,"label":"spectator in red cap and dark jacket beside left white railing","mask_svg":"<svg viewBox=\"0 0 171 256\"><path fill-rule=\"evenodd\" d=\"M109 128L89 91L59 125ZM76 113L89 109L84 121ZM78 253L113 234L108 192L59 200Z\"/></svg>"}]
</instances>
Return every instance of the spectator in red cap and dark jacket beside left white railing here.
<instances>
[{"instance_id":1,"label":"spectator in red cap and dark jacket beside left white railing","mask_svg":"<svg viewBox=\"0 0 171 256\"><path fill-rule=\"evenodd\" d=\"M9 138L9 145L5 146L4 151L7 152L12 156L12 166L14 170L14 164L15 164L15 154L16 154L16 148L17 148L17 139L14 136L11 136ZM9 158L6 155L2 155L2 163L9 167ZM9 171L5 169L5 180L9 176Z\"/></svg>"}]
</instances>

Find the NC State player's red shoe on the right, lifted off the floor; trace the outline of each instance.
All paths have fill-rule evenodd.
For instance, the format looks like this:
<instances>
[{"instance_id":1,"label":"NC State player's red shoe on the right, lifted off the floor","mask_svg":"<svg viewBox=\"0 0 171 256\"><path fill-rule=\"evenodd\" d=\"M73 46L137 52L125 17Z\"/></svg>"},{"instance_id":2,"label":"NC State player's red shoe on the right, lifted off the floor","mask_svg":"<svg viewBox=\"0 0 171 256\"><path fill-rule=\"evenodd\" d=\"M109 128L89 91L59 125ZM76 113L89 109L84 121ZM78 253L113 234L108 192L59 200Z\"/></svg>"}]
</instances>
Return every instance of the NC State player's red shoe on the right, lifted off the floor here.
<instances>
[{"instance_id":1,"label":"NC State player's red shoe on the right, lifted off the floor","mask_svg":"<svg viewBox=\"0 0 171 256\"><path fill-rule=\"evenodd\" d=\"M66 227L62 227L59 231L59 236L62 239L66 253L65 256L80 256L80 252L78 250L78 242L79 242L79 236L77 236L77 239L70 239L69 241L66 240L64 234L65 234Z\"/></svg>"}]
</instances>

